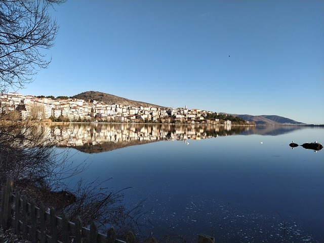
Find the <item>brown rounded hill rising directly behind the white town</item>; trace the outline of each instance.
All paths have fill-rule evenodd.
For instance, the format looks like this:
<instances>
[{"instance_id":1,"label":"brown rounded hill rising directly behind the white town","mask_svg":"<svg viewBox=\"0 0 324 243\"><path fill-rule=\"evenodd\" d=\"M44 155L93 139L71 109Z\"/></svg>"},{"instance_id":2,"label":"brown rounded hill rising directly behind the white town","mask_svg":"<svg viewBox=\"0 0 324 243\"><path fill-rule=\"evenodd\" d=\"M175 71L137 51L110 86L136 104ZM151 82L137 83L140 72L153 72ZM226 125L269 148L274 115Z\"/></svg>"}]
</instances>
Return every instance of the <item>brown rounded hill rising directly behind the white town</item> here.
<instances>
[{"instance_id":1,"label":"brown rounded hill rising directly behind the white town","mask_svg":"<svg viewBox=\"0 0 324 243\"><path fill-rule=\"evenodd\" d=\"M154 105L146 102L141 101L135 101L135 100L129 100L123 97L110 95L98 91L87 91L80 93L78 95L74 95L71 98L75 99L82 99L82 100L96 100L103 102L105 104L120 104L120 105L131 105L131 106L150 106L155 108L164 108L164 106Z\"/></svg>"}]
</instances>

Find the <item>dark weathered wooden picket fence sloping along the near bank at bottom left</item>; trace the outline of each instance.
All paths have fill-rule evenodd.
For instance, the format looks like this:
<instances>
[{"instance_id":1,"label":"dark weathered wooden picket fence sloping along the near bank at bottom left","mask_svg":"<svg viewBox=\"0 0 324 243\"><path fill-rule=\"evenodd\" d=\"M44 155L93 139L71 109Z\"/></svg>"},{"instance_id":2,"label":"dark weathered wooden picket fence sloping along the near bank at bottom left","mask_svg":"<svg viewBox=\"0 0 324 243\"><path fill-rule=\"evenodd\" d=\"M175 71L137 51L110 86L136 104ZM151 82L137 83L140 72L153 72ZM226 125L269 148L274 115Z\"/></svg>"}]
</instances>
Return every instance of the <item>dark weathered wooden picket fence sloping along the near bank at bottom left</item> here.
<instances>
[{"instance_id":1,"label":"dark weathered wooden picket fence sloping along the near bank at bottom left","mask_svg":"<svg viewBox=\"0 0 324 243\"><path fill-rule=\"evenodd\" d=\"M46 210L44 205L39 208L34 201L27 202L26 196L21 197L19 192L13 193L14 181L7 179L2 188L2 204L0 223L3 229L13 227L16 234L22 232L24 238L29 237L36 243L135 243L136 238L132 232L126 236L126 241L116 238L113 227L106 234L98 232L95 223L89 228L82 226L78 218L74 223L68 221L65 214L58 217L55 209ZM157 243L155 238L150 238L148 243ZM200 234L198 243L214 243L214 237Z\"/></svg>"}]
</instances>

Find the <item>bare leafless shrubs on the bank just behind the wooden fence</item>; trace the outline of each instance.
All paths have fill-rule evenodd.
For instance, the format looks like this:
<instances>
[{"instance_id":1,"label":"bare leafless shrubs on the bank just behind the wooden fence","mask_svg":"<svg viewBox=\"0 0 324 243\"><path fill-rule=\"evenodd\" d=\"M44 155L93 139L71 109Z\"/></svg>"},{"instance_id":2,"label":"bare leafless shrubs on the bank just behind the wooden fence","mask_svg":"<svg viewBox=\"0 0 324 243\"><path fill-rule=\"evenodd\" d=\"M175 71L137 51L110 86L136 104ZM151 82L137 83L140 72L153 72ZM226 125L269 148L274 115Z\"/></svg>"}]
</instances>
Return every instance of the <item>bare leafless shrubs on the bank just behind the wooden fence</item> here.
<instances>
[{"instance_id":1,"label":"bare leafless shrubs on the bank just behind the wooden fence","mask_svg":"<svg viewBox=\"0 0 324 243\"><path fill-rule=\"evenodd\" d=\"M66 213L72 221L77 216L85 225L95 221L102 231L113 225L120 236L129 230L139 232L137 220L145 212L141 204L134 209L123 205L123 192L128 188L111 191L103 186L106 181L96 179L81 180L74 188L65 184L90 164L73 163L68 150L54 149L57 139L60 136L50 136L47 127L31 120L12 120L11 113L0 114L0 185L6 177L13 178L15 190L37 205L54 207L59 215Z\"/></svg>"}]
</instances>

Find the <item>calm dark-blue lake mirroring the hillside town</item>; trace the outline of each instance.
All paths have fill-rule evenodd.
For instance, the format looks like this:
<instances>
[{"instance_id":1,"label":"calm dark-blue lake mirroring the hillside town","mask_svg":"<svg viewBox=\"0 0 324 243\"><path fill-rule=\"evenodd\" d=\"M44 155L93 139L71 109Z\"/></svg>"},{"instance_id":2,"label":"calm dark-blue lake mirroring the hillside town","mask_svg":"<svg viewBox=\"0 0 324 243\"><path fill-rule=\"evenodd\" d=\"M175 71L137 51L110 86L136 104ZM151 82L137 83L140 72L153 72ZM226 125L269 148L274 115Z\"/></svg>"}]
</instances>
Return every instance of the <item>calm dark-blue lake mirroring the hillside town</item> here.
<instances>
[{"instance_id":1,"label":"calm dark-blue lake mirroring the hillside town","mask_svg":"<svg viewBox=\"0 0 324 243\"><path fill-rule=\"evenodd\" d=\"M144 200L140 222L156 239L324 241L323 150L289 146L322 143L323 128L70 124L51 133L66 138L59 146L74 163L91 163L78 177L132 187L124 203Z\"/></svg>"}]
</instances>

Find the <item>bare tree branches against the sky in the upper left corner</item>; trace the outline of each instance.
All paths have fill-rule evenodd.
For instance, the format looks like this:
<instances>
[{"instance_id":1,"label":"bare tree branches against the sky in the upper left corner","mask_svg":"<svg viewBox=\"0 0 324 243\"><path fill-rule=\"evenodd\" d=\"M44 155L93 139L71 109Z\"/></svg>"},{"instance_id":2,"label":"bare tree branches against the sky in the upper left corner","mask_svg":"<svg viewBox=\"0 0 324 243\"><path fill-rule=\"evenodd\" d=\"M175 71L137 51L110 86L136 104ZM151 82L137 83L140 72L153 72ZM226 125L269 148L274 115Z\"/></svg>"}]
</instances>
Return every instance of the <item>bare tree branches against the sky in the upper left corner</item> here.
<instances>
[{"instance_id":1,"label":"bare tree branches against the sky in the upper left corner","mask_svg":"<svg viewBox=\"0 0 324 243\"><path fill-rule=\"evenodd\" d=\"M42 49L54 45L58 25L49 8L65 0L0 0L0 93L23 88L46 68Z\"/></svg>"}]
</instances>

